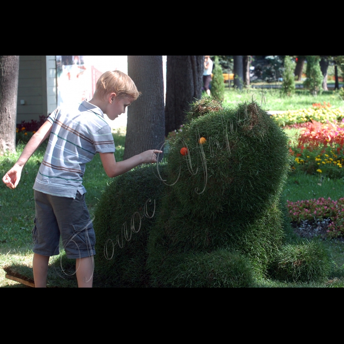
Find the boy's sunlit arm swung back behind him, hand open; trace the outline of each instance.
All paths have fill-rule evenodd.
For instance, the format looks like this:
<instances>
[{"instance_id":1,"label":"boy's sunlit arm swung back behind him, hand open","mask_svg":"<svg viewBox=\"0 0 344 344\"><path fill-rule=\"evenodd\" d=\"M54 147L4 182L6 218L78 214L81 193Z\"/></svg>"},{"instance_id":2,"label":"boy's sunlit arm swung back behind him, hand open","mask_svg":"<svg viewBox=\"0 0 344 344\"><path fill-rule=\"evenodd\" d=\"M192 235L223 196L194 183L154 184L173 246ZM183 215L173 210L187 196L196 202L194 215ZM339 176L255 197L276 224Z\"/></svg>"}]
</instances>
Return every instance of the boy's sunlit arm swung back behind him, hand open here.
<instances>
[{"instance_id":1,"label":"boy's sunlit arm swung back behind him, hand open","mask_svg":"<svg viewBox=\"0 0 344 344\"><path fill-rule=\"evenodd\" d=\"M29 160L30 156L36 151L41 143L50 135L53 125L46 121L36 133L33 134L22 154L13 167L3 176L2 181L10 189L15 189L19 183L23 167Z\"/></svg>"}]
</instances>

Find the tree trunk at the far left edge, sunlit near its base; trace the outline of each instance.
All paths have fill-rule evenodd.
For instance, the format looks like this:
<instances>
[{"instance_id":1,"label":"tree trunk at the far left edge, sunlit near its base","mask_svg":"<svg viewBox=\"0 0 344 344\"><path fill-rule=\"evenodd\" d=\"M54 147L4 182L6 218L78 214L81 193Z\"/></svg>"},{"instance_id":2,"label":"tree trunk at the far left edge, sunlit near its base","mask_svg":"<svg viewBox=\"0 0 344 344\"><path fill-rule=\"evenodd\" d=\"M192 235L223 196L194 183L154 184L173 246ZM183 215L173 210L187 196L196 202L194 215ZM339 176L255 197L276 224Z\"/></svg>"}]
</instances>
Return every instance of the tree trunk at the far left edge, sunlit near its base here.
<instances>
[{"instance_id":1,"label":"tree trunk at the far left edge, sunlit near its base","mask_svg":"<svg viewBox=\"0 0 344 344\"><path fill-rule=\"evenodd\" d=\"M0 154L16 151L19 56L0 56Z\"/></svg>"}]
</instances>

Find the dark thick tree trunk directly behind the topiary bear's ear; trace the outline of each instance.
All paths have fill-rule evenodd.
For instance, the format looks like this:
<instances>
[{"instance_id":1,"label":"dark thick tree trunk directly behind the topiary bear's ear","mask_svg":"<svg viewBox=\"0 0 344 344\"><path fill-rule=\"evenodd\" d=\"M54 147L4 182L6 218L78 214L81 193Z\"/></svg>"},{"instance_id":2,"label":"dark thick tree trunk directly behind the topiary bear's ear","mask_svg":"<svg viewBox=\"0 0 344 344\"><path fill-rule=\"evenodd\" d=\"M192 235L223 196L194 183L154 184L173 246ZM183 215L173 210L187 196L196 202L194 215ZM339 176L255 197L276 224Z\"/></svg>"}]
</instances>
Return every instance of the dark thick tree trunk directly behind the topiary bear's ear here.
<instances>
[{"instance_id":1,"label":"dark thick tree trunk directly behind the topiary bear's ear","mask_svg":"<svg viewBox=\"0 0 344 344\"><path fill-rule=\"evenodd\" d=\"M167 56L165 136L185 121L185 112L195 99L201 99L203 56Z\"/></svg>"}]
</instances>

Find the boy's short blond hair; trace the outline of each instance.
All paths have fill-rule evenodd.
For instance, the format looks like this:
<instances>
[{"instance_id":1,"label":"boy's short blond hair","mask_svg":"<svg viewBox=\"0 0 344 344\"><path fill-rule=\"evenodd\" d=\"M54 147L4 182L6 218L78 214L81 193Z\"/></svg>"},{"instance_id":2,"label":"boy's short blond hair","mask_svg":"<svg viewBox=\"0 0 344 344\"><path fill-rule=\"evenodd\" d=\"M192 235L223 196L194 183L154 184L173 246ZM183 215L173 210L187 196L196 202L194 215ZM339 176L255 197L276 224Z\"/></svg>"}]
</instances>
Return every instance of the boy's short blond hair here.
<instances>
[{"instance_id":1,"label":"boy's short blond hair","mask_svg":"<svg viewBox=\"0 0 344 344\"><path fill-rule=\"evenodd\" d=\"M105 99L112 92L118 98L132 97L134 100L141 95L130 76L119 70L105 72L99 77L93 97Z\"/></svg>"}]
</instances>

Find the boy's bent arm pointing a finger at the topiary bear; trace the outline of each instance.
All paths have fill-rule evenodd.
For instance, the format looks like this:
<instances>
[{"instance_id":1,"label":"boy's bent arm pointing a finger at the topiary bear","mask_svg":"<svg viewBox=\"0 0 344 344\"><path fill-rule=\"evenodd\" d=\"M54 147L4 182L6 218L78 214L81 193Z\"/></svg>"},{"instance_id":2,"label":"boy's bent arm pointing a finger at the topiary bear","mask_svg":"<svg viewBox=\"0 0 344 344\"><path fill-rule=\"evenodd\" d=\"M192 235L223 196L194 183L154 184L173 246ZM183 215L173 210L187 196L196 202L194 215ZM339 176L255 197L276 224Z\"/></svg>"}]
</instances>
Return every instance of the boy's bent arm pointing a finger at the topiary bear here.
<instances>
[{"instance_id":1,"label":"boy's bent arm pointing a finger at the topiary bear","mask_svg":"<svg viewBox=\"0 0 344 344\"><path fill-rule=\"evenodd\" d=\"M146 150L138 155L123 161L116 162L114 153L99 153L104 170L108 177L116 177L130 171L134 167L141 164L156 163L156 154L162 153L162 150L151 149Z\"/></svg>"}]
</instances>

